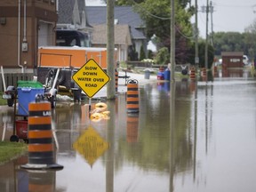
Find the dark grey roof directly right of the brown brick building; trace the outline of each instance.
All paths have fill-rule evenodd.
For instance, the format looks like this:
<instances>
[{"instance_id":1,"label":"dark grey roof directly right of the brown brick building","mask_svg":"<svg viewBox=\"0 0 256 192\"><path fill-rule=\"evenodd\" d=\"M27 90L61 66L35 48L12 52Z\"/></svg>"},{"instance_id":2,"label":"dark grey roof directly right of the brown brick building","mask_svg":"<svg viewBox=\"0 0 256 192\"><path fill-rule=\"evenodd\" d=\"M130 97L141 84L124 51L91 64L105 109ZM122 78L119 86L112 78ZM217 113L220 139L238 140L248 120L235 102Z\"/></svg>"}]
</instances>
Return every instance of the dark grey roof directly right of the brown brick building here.
<instances>
[{"instance_id":1,"label":"dark grey roof directly right of the brown brick building","mask_svg":"<svg viewBox=\"0 0 256 192\"><path fill-rule=\"evenodd\" d=\"M92 27L87 20L84 0L60 0L58 6L58 24L77 24L74 22L78 21L82 25L82 17L85 16L86 27ZM78 18L74 17L76 9Z\"/></svg>"}]
</instances>

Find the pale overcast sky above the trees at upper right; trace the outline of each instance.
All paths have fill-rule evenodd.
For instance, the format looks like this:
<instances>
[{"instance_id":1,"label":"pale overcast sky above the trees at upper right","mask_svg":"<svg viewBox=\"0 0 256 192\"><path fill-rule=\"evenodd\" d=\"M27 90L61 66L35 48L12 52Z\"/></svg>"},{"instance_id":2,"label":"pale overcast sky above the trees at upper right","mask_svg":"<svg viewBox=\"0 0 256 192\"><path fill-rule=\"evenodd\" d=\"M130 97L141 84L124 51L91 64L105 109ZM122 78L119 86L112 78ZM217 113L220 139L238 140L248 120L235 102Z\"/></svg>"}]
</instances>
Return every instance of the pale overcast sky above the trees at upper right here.
<instances>
[{"instance_id":1,"label":"pale overcast sky above the trees at upper right","mask_svg":"<svg viewBox=\"0 0 256 192\"><path fill-rule=\"evenodd\" d=\"M201 6L206 5L206 0L197 0L197 3L198 11L201 11ZM255 0L212 0L212 6L214 12L212 13L212 22L211 14L209 14L209 32L212 31L213 24L213 32L236 31L242 33L244 28L247 28L256 19ZM200 36L205 36L205 12L198 12L198 28Z\"/></svg>"}]
</instances>

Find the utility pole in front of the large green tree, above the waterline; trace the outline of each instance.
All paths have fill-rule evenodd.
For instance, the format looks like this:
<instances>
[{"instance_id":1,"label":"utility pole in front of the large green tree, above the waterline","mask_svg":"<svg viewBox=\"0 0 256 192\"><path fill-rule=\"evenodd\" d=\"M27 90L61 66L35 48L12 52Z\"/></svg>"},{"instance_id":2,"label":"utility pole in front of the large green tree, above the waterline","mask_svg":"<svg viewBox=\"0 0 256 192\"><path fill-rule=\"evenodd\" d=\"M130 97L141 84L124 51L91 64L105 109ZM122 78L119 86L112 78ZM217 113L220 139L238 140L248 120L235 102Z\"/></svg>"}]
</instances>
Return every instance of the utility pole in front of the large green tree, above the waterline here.
<instances>
[{"instance_id":1,"label":"utility pole in front of the large green tree, above the waterline","mask_svg":"<svg viewBox=\"0 0 256 192\"><path fill-rule=\"evenodd\" d=\"M171 81L175 81L175 8L174 0L171 0Z\"/></svg>"}]
</instances>

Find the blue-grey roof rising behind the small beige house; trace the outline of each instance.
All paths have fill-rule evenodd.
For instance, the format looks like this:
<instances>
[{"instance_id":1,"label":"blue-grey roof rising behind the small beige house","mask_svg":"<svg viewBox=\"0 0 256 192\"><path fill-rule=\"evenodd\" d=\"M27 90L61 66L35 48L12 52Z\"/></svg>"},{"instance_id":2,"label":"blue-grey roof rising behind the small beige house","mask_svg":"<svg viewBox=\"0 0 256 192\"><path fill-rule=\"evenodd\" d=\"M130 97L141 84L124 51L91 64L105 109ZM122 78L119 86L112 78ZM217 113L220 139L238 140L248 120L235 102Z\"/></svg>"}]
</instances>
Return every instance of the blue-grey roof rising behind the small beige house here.
<instances>
[{"instance_id":1,"label":"blue-grey roof rising behind the small beige house","mask_svg":"<svg viewBox=\"0 0 256 192\"><path fill-rule=\"evenodd\" d=\"M85 11L91 25L107 23L107 6L86 6ZM141 31L145 24L139 13L133 11L132 6L115 6L114 12L118 24L130 26L132 39L146 39Z\"/></svg>"}]
</instances>

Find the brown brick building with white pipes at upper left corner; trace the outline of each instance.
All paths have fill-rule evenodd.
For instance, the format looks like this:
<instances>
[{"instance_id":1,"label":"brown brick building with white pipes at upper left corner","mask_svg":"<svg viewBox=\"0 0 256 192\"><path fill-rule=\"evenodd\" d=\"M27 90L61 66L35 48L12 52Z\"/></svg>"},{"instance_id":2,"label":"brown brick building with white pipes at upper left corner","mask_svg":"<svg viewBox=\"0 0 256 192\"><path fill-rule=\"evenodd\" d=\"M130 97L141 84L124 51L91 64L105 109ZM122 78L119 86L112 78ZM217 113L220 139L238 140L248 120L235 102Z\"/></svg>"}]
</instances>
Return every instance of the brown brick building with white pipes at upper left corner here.
<instances>
[{"instance_id":1,"label":"brown brick building with white pipes at upper left corner","mask_svg":"<svg viewBox=\"0 0 256 192\"><path fill-rule=\"evenodd\" d=\"M36 68L37 48L54 45L55 0L0 1L0 65L6 72Z\"/></svg>"}]
</instances>

